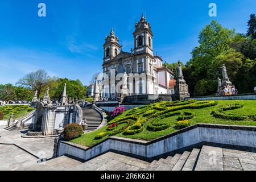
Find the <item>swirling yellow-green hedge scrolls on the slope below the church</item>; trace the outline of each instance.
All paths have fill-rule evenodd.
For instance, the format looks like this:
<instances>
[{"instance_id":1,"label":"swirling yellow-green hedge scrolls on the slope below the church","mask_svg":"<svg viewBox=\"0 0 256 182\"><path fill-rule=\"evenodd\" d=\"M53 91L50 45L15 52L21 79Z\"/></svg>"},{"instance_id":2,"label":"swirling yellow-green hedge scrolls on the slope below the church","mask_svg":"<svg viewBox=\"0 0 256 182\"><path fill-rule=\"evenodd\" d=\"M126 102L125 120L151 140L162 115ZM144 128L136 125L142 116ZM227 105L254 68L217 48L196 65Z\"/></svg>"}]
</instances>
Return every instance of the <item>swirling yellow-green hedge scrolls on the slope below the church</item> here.
<instances>
[{"instance_id":1,"label":"swirling yellow-green hedge scrolls on the slope below the church","mask_svg":"<svg viewBox=\"0 0 256 182\"><path fill-rule=\"evenodd\" d=\"M102 139L116 134L134 135L143 130L160 131L171 127L165 118L177 115L176 129L183 129L191 125L189 119L195 117L195 114L182 111L184 109L200 109L217 105L215 101L176 101L176 102L158 102L143 107L135 107L125 115L118 116L108 123L108 127L102 133L96 135L94 139ZM165 119L165 120L163 120Z\"/></svg>"}]
</instances>

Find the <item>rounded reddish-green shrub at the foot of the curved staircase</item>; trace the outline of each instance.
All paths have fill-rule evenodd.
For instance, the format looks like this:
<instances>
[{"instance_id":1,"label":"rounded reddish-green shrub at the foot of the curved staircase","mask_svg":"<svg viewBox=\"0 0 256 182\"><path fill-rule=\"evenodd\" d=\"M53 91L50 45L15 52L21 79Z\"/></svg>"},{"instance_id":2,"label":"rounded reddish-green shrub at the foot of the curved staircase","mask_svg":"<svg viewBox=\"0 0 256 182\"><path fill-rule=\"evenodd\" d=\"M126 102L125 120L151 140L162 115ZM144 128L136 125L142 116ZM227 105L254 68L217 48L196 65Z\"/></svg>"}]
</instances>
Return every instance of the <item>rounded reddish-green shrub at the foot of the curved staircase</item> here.
<instances>
[{"instance_id":1,"label":"rounded reddish-green shrub at the foot of the curved staircase","mask_svg":"<svg viewBox=\"0 0 256 182\"><path fill-rule=\"evenodd\" d=\"M77 123L71 123L64 127L64 140L69 141L80 137L84 131L82 130L82 126Z\"/></svg>"}]
</instances>

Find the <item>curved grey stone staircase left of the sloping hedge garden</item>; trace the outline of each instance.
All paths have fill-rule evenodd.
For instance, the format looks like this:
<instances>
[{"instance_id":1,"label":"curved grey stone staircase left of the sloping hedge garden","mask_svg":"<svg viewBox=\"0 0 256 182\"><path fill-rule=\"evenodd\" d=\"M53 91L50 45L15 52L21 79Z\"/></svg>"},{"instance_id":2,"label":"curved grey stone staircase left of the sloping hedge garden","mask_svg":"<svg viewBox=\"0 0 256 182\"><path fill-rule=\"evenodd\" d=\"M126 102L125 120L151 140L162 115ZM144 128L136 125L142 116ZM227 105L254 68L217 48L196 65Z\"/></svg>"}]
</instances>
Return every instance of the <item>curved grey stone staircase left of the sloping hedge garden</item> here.
<instances>
[{"instance_id":1,"label":"curved grey stone staircase left of the sloping hedge garden","mask_svg":"<svg viewBox=\"0 0 256 182\"><path fill-rule=\"evenodd\" d=\"M86 131L96 130L102 122L102 116L94 109L82 109L82 119L86 119L88 128Z\"/></svg>"}]
</instances>

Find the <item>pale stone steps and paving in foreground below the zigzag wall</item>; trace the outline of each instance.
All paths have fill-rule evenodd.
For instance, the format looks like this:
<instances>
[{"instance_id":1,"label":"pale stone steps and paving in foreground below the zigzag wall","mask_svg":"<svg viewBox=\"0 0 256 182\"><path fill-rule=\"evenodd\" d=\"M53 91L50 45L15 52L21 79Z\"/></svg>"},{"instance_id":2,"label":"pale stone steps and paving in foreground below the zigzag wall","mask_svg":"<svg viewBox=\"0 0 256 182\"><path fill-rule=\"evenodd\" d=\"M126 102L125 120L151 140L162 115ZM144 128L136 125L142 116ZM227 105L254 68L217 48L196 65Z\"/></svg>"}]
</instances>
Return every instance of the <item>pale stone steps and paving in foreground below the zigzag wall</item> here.
<instances>
[{"instance_id":1,"label":"pale stone steps and paving in foreground below the zigzag wall","mask_svg":"<svg viewBox=\"0 0 256 182\"><path fill-rule=\"evenodd\" d=\"M256 170L256 152L203 146L151 163L130 156L107 152L73 170L86 171L242 171Z\"/></svg>"}]
</instances>

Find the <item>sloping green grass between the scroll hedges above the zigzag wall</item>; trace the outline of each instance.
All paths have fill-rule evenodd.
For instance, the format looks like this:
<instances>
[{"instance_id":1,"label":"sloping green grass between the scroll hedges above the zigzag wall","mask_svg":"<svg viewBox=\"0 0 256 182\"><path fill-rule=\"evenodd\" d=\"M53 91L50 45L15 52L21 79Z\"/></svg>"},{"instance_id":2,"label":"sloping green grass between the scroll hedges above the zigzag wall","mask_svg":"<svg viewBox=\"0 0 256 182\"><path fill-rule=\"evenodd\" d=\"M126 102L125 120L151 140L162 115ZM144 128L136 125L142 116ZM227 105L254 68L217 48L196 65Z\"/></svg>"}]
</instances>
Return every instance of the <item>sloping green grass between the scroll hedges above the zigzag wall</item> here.
<instances>
[{"instance_id":1,"label":"sloping green grass between the scroll hedges above the zigzag wall","mask_svg":"<svg viewBox=\"0 0 256 182\"><path fill-rule=\"evenodd\" d=\"M204 107L201 109L182 109L184 112L190 112L193 113L194 117L192 119L189 119L189 122L191 125L195 125L196 123L213 123L213 124L224 124L224 125L245 125L245 126L256 126L256 121L253 120L246 120L246 121L233 121L233 120L228 120L228 119L221 119L221 118L216 118L214 117L211 112L214 109L217 109L218 107L222 105L229 105L229 104L242 104L243 107L239 109L234 109L234 110L227 110L225 113L228 114L243 114L243 115L255 115L256 114L256 101L217 101L217 105L215 106L209 106L209 107ZM148 105L144 107L143 109L140 109L140 111L137 113L137 117L145 119L146 122L143 123L143 131L141 133L133 134L133 135L125 135L123 132L119 133L115 136L117 137L125 137L125 138L133 138L133 139L142 139L142 140L152 140L156 139L159 137L162 137L164 135L174 133L177 131L175 128L175 123L177 122L178 115L163 118L162 120L159 121L159 123L164 123L167 122L170 126L167 129L160 130L160 131L149 131L147 129L147 126L154 122L154 119L147 119L147 117L143 117L143 114L145 114L148 110L155 110L152 106L154 105ZM162 105L164 107L164 105ZM152 109L153 108L153 109ZM125 113L118 115L118 117L114 118L114 120L118 120L118 118L123 118L129 115L128 113L131 110L125 111ZM156 112L159 112L158 110L155 110ZM181 110L177 110L181 111ZM136 113L134 114L136 115ZM111 122L111 121L110 121ZM117 126L117 129L119 129L122 126ZM93 131L88 134L84 134L79 138L71 140L73 143L81 144L83 146L93 146L94 144L100 142L101 140L104 140L108 138L108 136L101 138L101 139L94 139L96 135L102 133L102 131L106 131L108 126L102 127L99 130Z\"/></svg>"}]
</instances>

